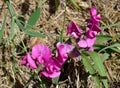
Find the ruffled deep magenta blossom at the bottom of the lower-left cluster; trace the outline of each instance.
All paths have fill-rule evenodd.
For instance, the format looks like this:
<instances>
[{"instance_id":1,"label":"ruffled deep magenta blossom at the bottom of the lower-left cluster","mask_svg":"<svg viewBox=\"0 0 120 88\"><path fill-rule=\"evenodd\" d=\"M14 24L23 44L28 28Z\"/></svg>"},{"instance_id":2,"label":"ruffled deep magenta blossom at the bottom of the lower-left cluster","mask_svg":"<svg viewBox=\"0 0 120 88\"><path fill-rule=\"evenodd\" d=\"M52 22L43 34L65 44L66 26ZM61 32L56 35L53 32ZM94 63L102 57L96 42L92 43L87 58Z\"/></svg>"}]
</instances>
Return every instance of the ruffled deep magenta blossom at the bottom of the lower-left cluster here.
<instances>
[{"instance_id":1,"label":"ruffled deep magenta blossom at the bottom of the lower-left cluster","mask_svg":"<svg viewBox=\"0 0 120 88\"><path fill-rule=\"evenodd\" d=\"M62 65L59 64L57 59L50 59L50 61L45 65L45 68L40 72L40 76L45 76L47 78L58 77L61 72Z\"/></svg>"}]
</instances>

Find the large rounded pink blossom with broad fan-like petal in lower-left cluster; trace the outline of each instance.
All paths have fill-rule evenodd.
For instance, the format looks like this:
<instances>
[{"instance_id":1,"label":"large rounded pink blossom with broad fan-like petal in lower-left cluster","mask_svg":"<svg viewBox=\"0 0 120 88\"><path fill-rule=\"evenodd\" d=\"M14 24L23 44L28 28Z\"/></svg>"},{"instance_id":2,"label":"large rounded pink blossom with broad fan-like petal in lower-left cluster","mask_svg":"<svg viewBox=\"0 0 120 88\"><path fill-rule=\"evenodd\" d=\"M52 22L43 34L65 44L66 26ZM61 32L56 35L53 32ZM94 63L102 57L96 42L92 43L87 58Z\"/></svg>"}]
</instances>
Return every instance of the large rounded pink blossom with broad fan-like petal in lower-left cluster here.
<instances>
[{"instance_id":1,"label":"large rounded pink blossom with broad fan-like petal in lower-left cluster","mask_svg":"<svg viewBox=\"0 0 120 88\"><path fill-rule=\"evenodd\" d=\"M32 57L42 64L49 61L52 57L52 52L48 46L39 44L32 48Z\"/></svg>"}]
</instances>

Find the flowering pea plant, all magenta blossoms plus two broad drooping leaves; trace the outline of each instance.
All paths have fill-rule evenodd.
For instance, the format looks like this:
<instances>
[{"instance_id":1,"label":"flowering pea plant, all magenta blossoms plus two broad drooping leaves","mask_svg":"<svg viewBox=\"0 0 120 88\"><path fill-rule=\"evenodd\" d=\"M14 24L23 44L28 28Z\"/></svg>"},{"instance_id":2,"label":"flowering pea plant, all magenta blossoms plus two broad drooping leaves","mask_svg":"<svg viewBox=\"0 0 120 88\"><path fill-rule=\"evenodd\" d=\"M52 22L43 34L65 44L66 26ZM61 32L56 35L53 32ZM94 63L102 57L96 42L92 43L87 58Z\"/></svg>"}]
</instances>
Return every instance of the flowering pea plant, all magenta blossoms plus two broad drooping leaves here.
<instances>
[{"instance_id":1,"label":"flowering pea plant, all magenta blossoms plus two broad drooping leaves","mask_svg":"<svg viewBox=\"0 0 120 88\"><path fill-rule=\"evenodd\" d=\"M78 54L85 68L93 77L97 88L100 88L100 81L102 81L105 88L108 88L103 62L99 55L94 52L93 47L96 42L97 34L102 31L99 27L100 20L101 16L97 14L96 8L92 7L90 9L90 20L86 26L85 33L73 21L70 22L68 26L66 34L74 38L76 45L73 45L72 42L58 42L56 44L57 55L54 56L48 46L42 44L35 45L32 51L23 57L22 65L29 67L31 70L36 70L40 65L41 68L38 71L39 77L54 79L60 76L62 66L65 61L69 59L69 55L72 54L72 56L76 57L76 54ZM94 65L91 63L91 58Z\"/></svg>"}]
</instances>

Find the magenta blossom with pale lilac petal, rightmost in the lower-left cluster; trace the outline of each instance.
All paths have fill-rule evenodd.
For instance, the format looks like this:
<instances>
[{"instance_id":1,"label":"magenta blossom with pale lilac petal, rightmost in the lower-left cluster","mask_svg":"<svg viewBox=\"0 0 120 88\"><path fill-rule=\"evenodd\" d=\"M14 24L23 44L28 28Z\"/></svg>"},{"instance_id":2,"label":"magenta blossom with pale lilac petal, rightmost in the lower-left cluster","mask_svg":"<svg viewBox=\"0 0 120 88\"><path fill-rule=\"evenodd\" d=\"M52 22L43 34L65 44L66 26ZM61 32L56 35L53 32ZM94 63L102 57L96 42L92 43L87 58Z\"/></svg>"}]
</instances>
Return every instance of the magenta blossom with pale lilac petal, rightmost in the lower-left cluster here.
<instances>
[{"instance_id":1,"label":"magenta blossom with pale lilac petal, rightmost in the lower-left cluster","mask_svg":"<svg viewBox=\"0 0 120 88\"><path fill-rule=\"evenodd\" d=\"M57 43L58 59L63 64L68 59L68 53L74 49L70 44Z\"/></svg>"}]
</instances>

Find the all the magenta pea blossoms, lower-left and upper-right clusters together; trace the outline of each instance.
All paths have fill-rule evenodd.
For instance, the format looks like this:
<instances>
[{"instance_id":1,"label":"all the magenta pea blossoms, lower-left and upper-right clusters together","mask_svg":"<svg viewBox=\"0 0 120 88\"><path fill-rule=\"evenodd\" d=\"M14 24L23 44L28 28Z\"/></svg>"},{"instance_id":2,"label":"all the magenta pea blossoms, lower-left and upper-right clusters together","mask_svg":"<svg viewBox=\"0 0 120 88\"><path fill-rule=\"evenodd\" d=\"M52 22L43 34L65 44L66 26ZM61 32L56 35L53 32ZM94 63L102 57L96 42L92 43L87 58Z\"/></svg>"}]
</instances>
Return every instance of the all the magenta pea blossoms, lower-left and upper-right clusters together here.
<instances>
[{"instance_id":1,"label":"all the magenta pea blossoms, lower-left and upper-right clusters together","mask_svg":"<svg viewBox=\"0 0 120 88\"><path fill-rule=\"evenodd\" d=\"M97 14L95 7L90 9L90 16L91 18L88 22L84 37L81 36L82 30L74 22L69 24L67 35L69 34L79 40L77 42L79 47L87 49L88 51L93 51L96 35L98 32L101 32L99 27L101 17ZM40 77L45 76L47 78L55 78L60 75L60 70L63 63L68 59L68 54L75 57L80 56L80 53L75 50L74 46L71 44L57 43L56 57L52 56L52 51L48 46L38 44L32 48L32 52L27 53L24 56L22 59L22 65L28 66L30 69L34 70L38 68L39 64L42 64L43 67L39 71Z\"/></svg>"}]
</instances>

